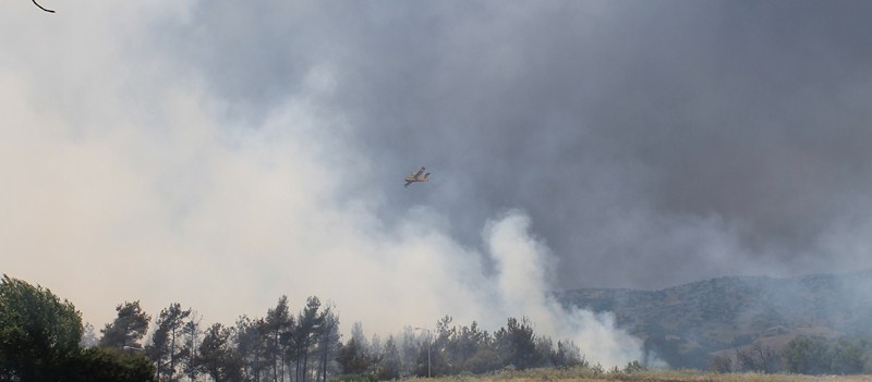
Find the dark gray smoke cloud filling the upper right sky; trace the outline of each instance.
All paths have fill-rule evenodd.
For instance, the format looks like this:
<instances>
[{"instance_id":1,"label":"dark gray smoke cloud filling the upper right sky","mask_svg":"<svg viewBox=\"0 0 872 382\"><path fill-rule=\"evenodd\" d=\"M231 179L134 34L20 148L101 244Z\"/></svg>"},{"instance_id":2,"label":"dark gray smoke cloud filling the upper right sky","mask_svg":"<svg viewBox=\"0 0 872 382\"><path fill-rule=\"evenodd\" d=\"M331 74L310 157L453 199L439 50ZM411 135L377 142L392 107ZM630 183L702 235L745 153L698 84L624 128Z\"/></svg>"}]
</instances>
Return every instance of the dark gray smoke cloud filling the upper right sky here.
<instances>
[{"instance_id":1,"label":"dark gray smoke cloud filling the upper right sky","mask_svg":"<svg viewBox=\"0 0 872 382\"><path fill-rule=\"evenodd\" d=\"M314 99L373 165L346 193L384 195L388 224L425 202L481 246L523 208L564 287L871 264L829 239L867 245L863 2L229 7L168 28L173 54L251 119L329 69ZM393 187L421 164L427 190Z\"/></svg>"}]
</instances>

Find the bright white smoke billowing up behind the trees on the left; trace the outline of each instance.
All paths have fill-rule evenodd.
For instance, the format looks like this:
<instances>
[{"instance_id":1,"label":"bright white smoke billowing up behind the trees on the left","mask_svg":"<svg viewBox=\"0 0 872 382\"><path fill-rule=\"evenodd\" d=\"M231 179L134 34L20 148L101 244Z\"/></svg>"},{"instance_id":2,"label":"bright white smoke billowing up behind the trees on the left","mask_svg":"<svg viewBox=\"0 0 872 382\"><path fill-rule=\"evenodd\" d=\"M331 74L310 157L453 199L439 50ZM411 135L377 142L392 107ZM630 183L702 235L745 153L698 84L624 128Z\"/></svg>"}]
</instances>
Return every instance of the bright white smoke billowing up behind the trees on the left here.
<instances>
[{"instance_id":1,"label":"bright white smoke billowing up behind the trees on the left","mask_svg":"<svg viewBox=\"0 0 872 382\"><path fill-rule=\"evenodd\" d=\"M232 323L281 295L292 306L317 295L344 328L360 320L389 333L451 315L495 330L529 317L591 360L642 358L609 315L549 297L555 259L526 214L489 222L484 254L452 237L457 217L438 206L412 202L384 221L378 207L390 200L366 184L401 187L403 174L373 177L382 164L348 147L353 124L318 102L336 90L329 62L249 119L231 115L196 67L135 44L186 17L178 2L93 2L51 20L10 7L0 13L4 57L15 58L0 60L0 272L51 288L94 326L137 299L153 316L180 303ZM436 169L417 186L404 197L462 193Z\"/></svg>"}]
</instances>

